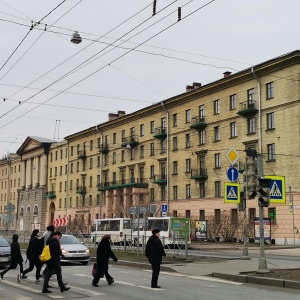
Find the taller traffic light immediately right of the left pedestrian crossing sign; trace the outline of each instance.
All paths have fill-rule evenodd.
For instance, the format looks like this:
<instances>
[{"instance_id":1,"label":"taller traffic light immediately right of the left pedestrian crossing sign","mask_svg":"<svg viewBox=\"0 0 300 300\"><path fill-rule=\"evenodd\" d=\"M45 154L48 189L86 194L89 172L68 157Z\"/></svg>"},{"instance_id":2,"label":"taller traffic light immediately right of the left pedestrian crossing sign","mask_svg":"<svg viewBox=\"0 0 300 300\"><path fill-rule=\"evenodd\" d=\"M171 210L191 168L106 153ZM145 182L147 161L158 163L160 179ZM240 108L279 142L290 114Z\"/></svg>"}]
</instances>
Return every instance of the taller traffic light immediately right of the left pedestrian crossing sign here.
<instances>
[{"instance_id":1,"label":"taller traffic light immediately right of the left pedestrian crossing sign","mask_svg":"<svg viewBox=\"0 0 300 300\"><path fill-rule=\"evenodd\" d=\"M256 159L251 156L246 159L246 171L243 175L245 176L244 188L246 188L248 199L254 199L257 195L257 171L256 171Z\"/></svg>"}]
</instances>

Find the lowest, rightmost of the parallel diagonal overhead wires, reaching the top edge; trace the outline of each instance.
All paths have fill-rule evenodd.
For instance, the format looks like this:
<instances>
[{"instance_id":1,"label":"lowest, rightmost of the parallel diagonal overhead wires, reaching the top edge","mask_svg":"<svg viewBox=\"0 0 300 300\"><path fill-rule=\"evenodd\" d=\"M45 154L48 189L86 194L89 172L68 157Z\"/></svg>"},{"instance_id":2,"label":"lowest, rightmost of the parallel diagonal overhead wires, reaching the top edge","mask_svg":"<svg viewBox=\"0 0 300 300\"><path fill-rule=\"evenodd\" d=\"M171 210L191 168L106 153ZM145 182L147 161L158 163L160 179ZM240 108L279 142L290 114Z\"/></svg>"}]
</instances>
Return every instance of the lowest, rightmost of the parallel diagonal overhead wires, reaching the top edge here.
<instances>
[{"instance_id":1,"label":"lowest, rightmost of the parallel diagonal overhead wires, reaching the top edge","mask_svg":"<svg viewBox=\"0 0 300 300\"><path fill-rule=\"evenodd\" d=\"M205 8L207 5L213 3L214 1L215 1L215 0L211 0L210 2L208 2L208 3L206 3L205 5L201 6L201 7L198 8L197 10L195 10L195 11L193 11L192 13L188 14L187 16L185 16L184 18L182 18L181 20L185 20L188 16L192 15L194 12L199 11L200 9ZM158 36L159 34L165 32L167 29L170 29L171 27L173 27L173 26L176 25L176 24L178 24L177 21L176 21L175 23L172 23L172 24L169 25L168 27L164 28L163 30L159 31L157 34L151 36L150 38L148 38L148 39L145 40L144 42L140 43L140 44L137 45L135 48L138 48L139 46L143 45L144 43L146 43L146 42L148 42L149 40L153 39L154 37ZM135 48L134 48L134 49L135 49ZM37 105L36 107L34 107L34 108L30 109L29 111L27 111L27 112L21 114L19 117L15 118L14 120L11 120L10 122L8 122L8 123L2 125L2 126L0 127L0 129L2 129L2 128L6 127L7 125L13 123L14 121L20 119L21 117L25 116L26 114L30 113L31 111L35 110L36 108L40 107L41 105L47 103L48 101L50 101L50 100L56 98L57 96L59 96L59 95L62 94L63 92L69 90L70 88L72 88L73 86L77 85L78 83L80 83L80 82L86 80L87 78L93 76L94 74L98 73L99 71L101 71L101 70L104 69L105 67L109 66L111 63L116 62L117 60L121 59L122 57L124 57L125 55L129 54L129 53L132 52L132 51L133 51L133 49L127 51L126 53L124 53L124 54L122 54L122 55L120 55L119 57L117 57L116 59L114 59L113 61L111 61L110 63L106 64L105 66L103 66L103 67L101 67L101 68L99 68L99 69L97 69L96 71L92 72L92 73L89 74L88 76L82 78L81 80L79 80L79 81L77 81L76 83L72 84L71 86L67 87L66 89L64 89L63 91L61 91L59 94L57 94L57 95L55 95L55 96L53 96L53 97L50 97L49 99L47 99L47 100L45 100L44 102L42 102L42 103L40 103L39 105Z\"/></svg>"}]
</instances>

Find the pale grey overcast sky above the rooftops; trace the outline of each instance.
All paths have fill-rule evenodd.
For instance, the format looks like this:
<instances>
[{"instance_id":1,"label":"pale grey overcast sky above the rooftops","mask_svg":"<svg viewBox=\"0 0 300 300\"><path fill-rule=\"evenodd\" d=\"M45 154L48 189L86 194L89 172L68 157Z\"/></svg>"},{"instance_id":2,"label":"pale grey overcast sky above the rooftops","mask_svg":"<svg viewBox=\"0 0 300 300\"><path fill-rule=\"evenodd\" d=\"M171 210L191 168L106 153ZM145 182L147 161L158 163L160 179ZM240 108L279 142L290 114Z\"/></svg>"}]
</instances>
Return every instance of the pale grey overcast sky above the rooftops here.
<instances>
[{"instance_id":1,"label":"pale grey overcast sky above the rooftops","mask_svg":"<svg viewBox=\"0 0 300 300\"><path fill-rule=\"evenodd\" d=\"M62 140L299 49L299 11L299 0L157 0L154 16L152 0L0 0L0 158L28 136Z\"/></svg>"}]
</instances>

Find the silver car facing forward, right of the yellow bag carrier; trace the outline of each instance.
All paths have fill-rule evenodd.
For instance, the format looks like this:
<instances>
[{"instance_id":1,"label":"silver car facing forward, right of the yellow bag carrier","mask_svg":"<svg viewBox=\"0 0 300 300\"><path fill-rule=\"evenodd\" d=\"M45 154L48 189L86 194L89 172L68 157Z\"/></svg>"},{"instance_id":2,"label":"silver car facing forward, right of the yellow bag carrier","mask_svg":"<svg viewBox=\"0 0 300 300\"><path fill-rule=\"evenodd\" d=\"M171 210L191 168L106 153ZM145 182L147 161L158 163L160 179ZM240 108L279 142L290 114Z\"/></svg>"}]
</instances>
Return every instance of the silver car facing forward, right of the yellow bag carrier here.
<instances>
[{"instance_id":1,"label":"silver car facing forward, right of the yellow bag carrier","mask_svg":"<svg viewBox=\"0 0 300 300\"><path fill-rule=\"evenodd\" d=\"M63 234L60 240L62 262L80 262L87 265L90 260L90 250L81 243L74 235Z\"/></svg>"}]
</instances>

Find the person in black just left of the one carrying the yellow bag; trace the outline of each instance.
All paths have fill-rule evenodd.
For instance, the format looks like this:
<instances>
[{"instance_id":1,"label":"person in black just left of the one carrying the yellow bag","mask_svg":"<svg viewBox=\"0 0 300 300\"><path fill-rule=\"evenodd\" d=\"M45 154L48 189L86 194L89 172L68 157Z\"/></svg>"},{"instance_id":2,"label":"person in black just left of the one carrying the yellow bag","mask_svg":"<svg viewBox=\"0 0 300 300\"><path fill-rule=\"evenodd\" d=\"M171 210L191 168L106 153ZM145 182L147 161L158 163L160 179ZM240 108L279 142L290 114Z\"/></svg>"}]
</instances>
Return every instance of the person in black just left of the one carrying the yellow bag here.
<instances>
[{"instance_id":1,"label":"person in black just left of the one carrying the yellow bag","mask_svg":"<svg viewBox=\"0 0 300 300\"><path fill-rule=\"evenodd\" d=\"M31 234L31 239L29 241L28 248L26 250L26 257L29 260L28 269L24 270L22 274L22 279L27 278L26 274L31 272L34 267L36 267L35 273L35 283L40 282L40 274L42 269L42 262L40 261L40 255L43 251L44 240L40 238L40 231L34 229Z\"/></svg>"}]
</instances>

